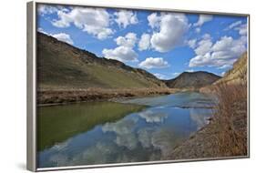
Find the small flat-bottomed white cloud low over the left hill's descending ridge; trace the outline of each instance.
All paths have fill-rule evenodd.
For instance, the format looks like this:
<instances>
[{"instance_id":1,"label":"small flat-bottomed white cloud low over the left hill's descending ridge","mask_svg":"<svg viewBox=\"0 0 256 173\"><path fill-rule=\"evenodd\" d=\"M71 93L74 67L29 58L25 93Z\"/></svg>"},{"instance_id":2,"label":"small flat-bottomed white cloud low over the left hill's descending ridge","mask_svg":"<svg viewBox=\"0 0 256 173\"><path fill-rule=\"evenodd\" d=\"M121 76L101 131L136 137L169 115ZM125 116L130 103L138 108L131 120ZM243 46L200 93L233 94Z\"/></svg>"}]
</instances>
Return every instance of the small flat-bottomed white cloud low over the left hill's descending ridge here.
<instances>
[{"instance_id":1,"label":"small flat-bottomed white cloud low over the left hill's descending ridge","mask_svg":"<svg viewBox=\"0 0 256 173\"><path fill-rule=\"evenodd\" d=\"M169 64L167 61L164 61L162 57L147 57L144 61L138 64L142 68L164 68L168 67Z\"/></svg>"}]
</instances>

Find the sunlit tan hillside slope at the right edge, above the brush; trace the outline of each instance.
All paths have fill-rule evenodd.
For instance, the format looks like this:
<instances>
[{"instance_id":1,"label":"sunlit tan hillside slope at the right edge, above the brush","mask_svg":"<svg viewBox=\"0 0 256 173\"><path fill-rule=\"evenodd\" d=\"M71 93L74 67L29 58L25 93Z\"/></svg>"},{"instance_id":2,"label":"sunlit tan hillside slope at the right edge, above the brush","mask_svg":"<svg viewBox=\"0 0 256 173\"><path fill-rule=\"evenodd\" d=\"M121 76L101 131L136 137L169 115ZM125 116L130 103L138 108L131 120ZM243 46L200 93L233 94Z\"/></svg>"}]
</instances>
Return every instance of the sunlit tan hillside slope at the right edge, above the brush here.
<instances>
[{"instance_id":1,"label":"sunlit tan hillside slope at the right edge, above the brush","mask_svg":"<svg viewBox=\"0 0 256 173\"><path fill-rule=\"evenodd\" d=\"M224 76L214 84L220 83L241 83L247 80L247 52L245 52L227 71Z\"/></svg>"}]
</instances>

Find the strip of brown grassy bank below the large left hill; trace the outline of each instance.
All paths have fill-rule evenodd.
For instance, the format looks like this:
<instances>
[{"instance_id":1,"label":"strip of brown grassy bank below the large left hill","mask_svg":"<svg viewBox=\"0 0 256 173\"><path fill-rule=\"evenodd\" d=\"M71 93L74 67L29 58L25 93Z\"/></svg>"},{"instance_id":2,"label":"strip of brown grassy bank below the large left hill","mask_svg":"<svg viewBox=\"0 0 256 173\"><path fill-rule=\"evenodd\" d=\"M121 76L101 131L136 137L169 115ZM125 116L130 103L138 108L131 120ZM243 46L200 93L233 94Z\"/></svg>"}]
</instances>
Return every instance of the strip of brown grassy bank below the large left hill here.
<instances>
[{"instance_id":1,"label":"strip of brown grassy bank below the large left hill","mask_svg":"<svg viewBox=\"0 0 256 173\"><path fill-rule=\"evenodd\" d=\"M133 89L103 89L88 88L80 90L38 90L38 106L60 105L74 102L106 101L117 98L145 97L169 95L192 89L179 88L133 88Z\"/></svg>"}]
</instances>

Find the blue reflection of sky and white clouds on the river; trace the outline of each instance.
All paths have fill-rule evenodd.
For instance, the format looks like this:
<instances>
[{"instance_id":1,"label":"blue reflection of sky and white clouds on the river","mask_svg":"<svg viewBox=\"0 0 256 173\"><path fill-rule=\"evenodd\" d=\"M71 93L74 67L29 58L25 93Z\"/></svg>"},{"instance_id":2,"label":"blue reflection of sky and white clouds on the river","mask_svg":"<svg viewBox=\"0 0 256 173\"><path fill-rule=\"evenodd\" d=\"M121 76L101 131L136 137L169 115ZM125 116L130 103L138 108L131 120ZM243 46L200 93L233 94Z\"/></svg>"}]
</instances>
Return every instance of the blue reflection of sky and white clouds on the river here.
<instances>
[{"instance_id":1,"label":"blue reflection of sky and white clouds on the river","mask_svg":"<svg viewBox=\"0 0 256 173\"><path fill-rule=\"evenodd\" d=\"M184 95L181 97L185 99ZM39 167L138 162L164 158L191 133L205 126L212 110L170 107L174 105L175 100L172 99L171 103L168 103L166 100L170 100L169 97L162 99L165 101L161 101L160 106L157 104L158 106L128 114L116 122L98 125L90 131L70 137L65 142L39 152ZM177 99L181 102L181 98ZM147 100L148 104L150 102L152 100Z\"/></svg>"}]
</instances>

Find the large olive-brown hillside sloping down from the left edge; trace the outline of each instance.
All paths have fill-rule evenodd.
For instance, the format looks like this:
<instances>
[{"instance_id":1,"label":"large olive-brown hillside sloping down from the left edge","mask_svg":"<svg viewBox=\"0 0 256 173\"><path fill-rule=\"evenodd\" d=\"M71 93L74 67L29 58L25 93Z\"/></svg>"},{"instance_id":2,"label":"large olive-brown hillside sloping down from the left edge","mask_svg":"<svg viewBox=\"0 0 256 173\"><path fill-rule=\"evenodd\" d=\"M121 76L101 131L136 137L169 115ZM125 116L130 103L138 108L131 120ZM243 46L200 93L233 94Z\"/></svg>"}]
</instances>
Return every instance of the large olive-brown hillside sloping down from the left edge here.
<instances>
[{"instance_id":1,"label":"large olive-brown hillside sloping down from the left edge","mask_svg":"<svg viewBox=\"0 0 256 173\"><path fill-rule=\"evenodd\" d=\"M156 76L37 33L40 89L167 87Z\"/></svg>"}]
</instances>

